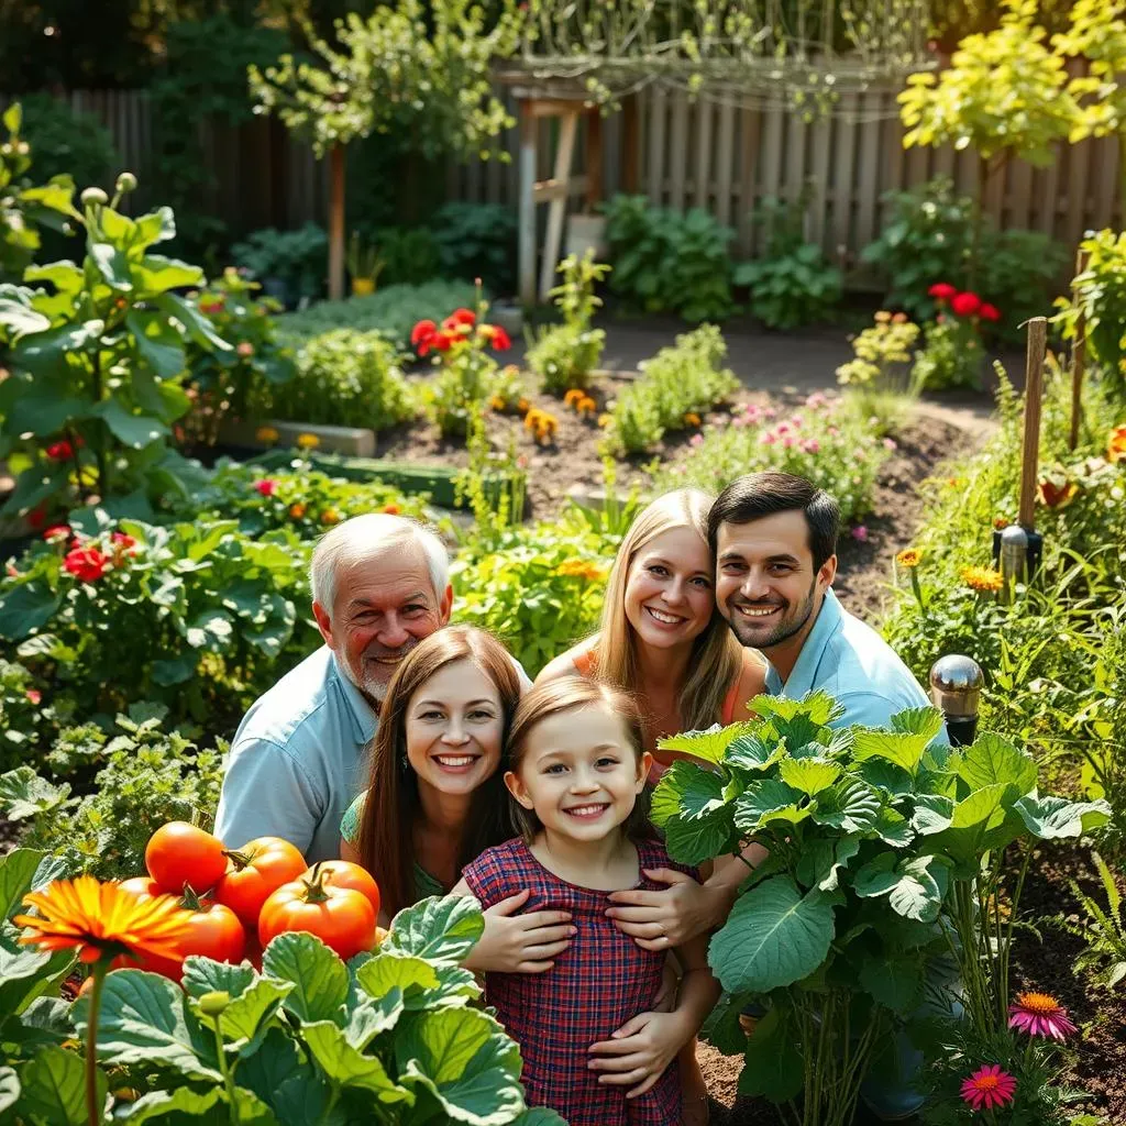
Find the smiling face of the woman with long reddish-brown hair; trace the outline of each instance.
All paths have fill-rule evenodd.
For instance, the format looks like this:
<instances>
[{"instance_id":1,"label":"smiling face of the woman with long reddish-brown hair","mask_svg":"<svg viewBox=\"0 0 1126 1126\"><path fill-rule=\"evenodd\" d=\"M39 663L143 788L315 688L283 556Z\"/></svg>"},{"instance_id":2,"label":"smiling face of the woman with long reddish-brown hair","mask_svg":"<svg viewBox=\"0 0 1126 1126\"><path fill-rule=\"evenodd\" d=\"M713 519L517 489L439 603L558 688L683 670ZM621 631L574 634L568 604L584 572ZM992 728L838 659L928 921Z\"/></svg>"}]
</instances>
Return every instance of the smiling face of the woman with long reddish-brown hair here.
<instances>
[{"instance_id":1,"label":"smiling face of the woman with long reddish-brown hair","mask_svg":"<svg viewBox=\"0 0 1126 1126\"><path fill-rule=\"evenodd\" d=\"M500 765L504 712L489 676L471 660L440 668L406 705L406 760L420 786L472 794Z\"/></svg>"}]
</instances>

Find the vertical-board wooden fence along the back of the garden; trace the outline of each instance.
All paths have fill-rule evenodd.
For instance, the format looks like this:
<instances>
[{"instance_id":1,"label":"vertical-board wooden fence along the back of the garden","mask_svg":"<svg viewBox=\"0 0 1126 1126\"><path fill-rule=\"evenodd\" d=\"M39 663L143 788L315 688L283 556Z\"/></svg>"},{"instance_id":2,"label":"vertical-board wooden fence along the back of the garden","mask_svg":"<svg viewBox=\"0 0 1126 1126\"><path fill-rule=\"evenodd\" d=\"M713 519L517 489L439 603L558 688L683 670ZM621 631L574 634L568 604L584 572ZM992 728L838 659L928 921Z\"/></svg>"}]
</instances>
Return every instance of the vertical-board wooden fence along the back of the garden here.
<instances>
[{"instance_id":1,"label":"vertical-board wooden fence along the back of the garden","mask_svg":"<svg viewBox=\"0 0 1126 1126\"><path fill-rule=\"evenodd\" d=\"M516 116L517 106L506 97ZM155 128L146 92L74 91L68 98L111 132L120 167L142 181L135 204L159 203L144 190L151 182L146 172ZM7 100L0 97L0 106ZM884 193L937 175L950 176L966 193L976 184L972 151L903 150L891 88L846 95L831 118L813 124L781 109L709 99L691 104L680 95L647 90L637 96L636 120L635 129L623 127L622 114L604 123L604 198L636 188L654 204L704 207L735 229L740 257L759 249L750 221L756 205L770 196L793 198L806 182L813 193L810 236L832 258L852 260L879 232ZM539 127L538 175L546 179L557 125L545 120ZM199 131L214 178L202 204L234 230L325 222L325 169L278 122L256 118L238 128L204 122ZM626 151L627 141L634 151ZM518 142L518 126L499 138L499 149L513 157L509 163L473 160L452 167L448 198L515 207ZM583 171L583 152L580 136L577 172ZM1118 169L1117 138L1061 145L1049 168L1013 161L998 171L985 209L1002 227L1043 231L1073 247L1085 230L1120 224Z\"/></svg>"}]
</instances>

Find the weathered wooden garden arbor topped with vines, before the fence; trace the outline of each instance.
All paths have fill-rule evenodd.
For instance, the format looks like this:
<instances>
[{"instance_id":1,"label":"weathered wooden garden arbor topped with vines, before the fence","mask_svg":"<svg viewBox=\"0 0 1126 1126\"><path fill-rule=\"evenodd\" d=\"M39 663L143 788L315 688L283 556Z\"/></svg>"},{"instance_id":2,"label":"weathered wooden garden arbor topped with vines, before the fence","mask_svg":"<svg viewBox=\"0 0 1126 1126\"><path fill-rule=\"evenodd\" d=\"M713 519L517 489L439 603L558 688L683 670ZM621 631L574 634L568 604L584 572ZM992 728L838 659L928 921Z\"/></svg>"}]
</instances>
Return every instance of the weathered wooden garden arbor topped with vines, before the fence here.
<instances>
[{"instance_id":1,"label":"weathered wooden garden arbor topped with vines, before the fence","mask_svg":"<svg viewBox=\"0 0 1126 1126\"><path fill-rule=\"evenodd\" d=\"M625 104L627 161L640 145L635 102L646 88L743 107L831 114L843 93L928 68L926 0L533 0L524 51L499 79L520 109L520 300L536 286L536 205L548 203L538 296L552 284L568 200L598 202L599 115ZM572 175L589 116L584 177ZM560 120L549 180L536 180L544 117Z\"/></svg>"}]
</instances>

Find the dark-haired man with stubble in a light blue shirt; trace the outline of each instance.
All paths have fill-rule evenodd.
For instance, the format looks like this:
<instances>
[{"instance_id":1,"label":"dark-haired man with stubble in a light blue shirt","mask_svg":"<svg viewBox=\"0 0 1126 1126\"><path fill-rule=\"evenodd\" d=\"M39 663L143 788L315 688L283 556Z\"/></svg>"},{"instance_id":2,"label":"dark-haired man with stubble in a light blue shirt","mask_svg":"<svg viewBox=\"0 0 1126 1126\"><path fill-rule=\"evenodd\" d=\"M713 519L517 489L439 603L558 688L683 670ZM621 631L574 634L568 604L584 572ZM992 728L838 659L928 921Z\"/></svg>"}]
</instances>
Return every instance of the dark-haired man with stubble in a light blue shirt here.
<instances>
[{"instance_id":1,"label":"dark-haired man with stubble in a light blue shirt","mask_svg":"<svg viewBox=\"0 0 1126 1126\"><path fill-rule=\"evenodd\" d=\"M835 725L882 727L930 701L883 637L837 600L839 530L837 501L805 477L736 479L708 516L715 599L740 643L770 661L769 692L801 699L820 689L843 708Z\"/></svg>"}]
</instances>

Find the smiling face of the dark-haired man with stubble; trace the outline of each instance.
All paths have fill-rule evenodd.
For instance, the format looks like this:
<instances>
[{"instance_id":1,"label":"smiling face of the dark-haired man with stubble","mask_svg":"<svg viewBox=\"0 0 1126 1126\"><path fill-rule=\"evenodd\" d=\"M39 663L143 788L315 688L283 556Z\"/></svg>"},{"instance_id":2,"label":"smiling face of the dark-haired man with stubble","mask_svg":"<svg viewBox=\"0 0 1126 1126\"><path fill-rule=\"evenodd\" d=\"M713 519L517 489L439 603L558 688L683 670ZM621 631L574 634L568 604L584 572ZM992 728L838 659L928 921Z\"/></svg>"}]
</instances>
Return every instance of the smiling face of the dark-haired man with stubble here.
<instances>
[{"instance_id":1,"label":"smiling face of the dark-haired man with stubble","mask_svg":"<svg viewBox=\"0 0 1126 1126\"><path fill-rule=\"evenodd\" d=\"M814 570L810 530L799 510L750 524L722 524L716 536L716 604L740 644L770 652L801 650L816 620L837 556Z\"/></svg>"}]
</instances>

